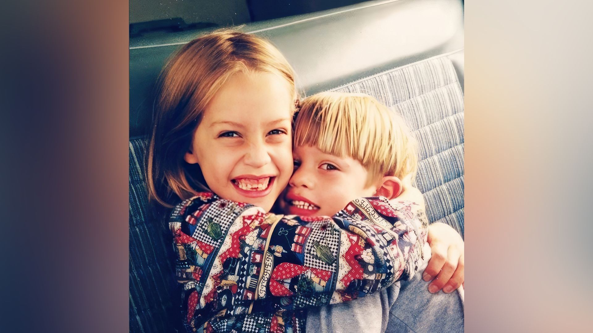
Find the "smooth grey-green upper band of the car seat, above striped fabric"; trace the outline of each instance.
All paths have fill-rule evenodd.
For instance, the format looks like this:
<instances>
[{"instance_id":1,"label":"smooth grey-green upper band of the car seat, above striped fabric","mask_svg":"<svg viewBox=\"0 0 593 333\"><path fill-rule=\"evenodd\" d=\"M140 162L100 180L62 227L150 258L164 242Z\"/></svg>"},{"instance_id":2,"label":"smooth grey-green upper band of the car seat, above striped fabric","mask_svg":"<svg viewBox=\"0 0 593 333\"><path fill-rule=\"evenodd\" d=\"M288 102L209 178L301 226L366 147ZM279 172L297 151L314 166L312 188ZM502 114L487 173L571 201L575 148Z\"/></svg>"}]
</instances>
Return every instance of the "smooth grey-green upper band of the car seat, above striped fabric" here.
<instances>
[{"instance_id":1,"label":"smooth grey-green upper band of the car seat, above striped fabric","mask_svg":"<svg viewBox=\"0 0 593 333\"><path fill-rule=\"evenodd\" d=\"M150 94L167 57L212 30L130 39L130 136L150 126ZM461 0L366 1L243 28L278 47L308 95L443 54L463 79L463 30Z\"/></svg>"}]
</instances>

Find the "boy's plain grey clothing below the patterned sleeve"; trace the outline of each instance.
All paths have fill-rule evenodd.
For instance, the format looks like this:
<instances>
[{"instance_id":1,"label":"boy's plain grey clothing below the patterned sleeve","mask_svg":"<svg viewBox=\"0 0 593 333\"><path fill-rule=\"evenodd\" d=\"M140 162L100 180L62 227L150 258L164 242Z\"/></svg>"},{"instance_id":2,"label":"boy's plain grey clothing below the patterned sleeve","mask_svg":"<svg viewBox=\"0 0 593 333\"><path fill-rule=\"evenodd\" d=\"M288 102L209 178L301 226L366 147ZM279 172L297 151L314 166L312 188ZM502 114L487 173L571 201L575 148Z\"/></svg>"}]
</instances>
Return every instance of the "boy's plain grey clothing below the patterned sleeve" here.
<instances>
[{"instance_id":1,"label":"boy's plain grey clothing below the patterned sleeve","mask_svg":"<svg viewBox=\"0 0 593 333\"><path fill-rule=\"evenodd\" d=\"M352 302L311 308L307 332L463 332L463 290L431 294L422 271Z\"/></svg>"}]
</instances>

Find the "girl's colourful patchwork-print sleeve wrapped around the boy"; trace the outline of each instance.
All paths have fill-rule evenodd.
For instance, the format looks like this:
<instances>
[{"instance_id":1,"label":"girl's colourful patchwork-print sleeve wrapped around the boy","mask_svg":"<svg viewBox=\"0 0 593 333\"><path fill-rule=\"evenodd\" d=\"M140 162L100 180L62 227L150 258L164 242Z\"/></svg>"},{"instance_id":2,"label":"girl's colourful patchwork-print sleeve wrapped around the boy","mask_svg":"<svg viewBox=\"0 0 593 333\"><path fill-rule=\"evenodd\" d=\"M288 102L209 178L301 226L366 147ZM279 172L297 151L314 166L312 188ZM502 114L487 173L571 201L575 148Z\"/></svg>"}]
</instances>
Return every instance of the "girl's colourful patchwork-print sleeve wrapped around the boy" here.
<instances>
[{"instance_id":1,"label":"girl's colourful patchwork-print sleeve wrapped around the boy","mask_svg":"<svg viewBox=\"0 0 593 333\"><path fill-rule=\"evenodd\" d=\"M425 223L410 202L358 198L334 217L265 213L212 193L171 214L187 328L347 302L413 276ZM210 325L210 324L208 324Z\"/></svg>"}]
</instances>

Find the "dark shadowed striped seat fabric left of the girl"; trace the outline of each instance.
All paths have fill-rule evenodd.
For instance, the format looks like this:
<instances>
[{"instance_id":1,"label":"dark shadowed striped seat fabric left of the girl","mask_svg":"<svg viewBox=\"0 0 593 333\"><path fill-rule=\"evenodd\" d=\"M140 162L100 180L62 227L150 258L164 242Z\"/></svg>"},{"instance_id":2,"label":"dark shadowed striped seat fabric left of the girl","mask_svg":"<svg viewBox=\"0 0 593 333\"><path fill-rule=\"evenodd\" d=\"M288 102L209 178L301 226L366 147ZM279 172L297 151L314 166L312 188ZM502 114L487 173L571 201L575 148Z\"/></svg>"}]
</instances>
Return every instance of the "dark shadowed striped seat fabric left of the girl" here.
<instances>
[{"instance_id":1,"label":"dark shadowed striped seat fabric left of the girl","mask_svg":"<svg viewBox=\"0 0 593 333\"><path fill-rule=\"evenodd\" d=\"M130 332L175 332L174 252L167 223L148 204L145 140L130 141Z\"/></svg>"}]
</instances>

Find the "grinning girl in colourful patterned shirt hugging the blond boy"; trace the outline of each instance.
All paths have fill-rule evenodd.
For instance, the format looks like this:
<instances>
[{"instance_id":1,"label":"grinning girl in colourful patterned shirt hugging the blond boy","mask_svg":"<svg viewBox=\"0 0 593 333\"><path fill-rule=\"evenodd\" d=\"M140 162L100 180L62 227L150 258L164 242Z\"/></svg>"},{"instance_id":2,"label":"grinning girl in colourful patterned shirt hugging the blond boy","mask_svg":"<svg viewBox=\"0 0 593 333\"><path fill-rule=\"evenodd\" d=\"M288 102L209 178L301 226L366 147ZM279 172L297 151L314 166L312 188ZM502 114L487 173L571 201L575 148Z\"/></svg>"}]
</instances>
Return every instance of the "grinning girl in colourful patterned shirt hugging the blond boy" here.
<instances>
[{"instance_id":1,"label":"grinning girl in colourful patterned shirt hugging the blond boy","mask_svg":"<svg viewBox=\"0 0 593 333\"><path fill-rule=\"evenodd\" d=\"M385 287L413 274L421 260L426 235L417 217L397 223L391 218L393 225L383 225L360 217L264 214L292 174L297 101L294 73L284 57L267 41L237 31L186 44L162 72L147 161L149 195L171 207L198 190L216 194L184 201L171 222L190 331L301 331L299 309ZM365 202L369 209L385 204ZM369 225L374 232L364 231ZM377 230L400 236L378 244ZM299 248L298 232L315 241ZM328 282L355 267L352 258L363 251L375 253L369 268L383 273L336 290Z\"/></svg>"}]
</instances>

